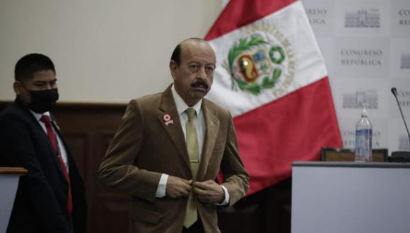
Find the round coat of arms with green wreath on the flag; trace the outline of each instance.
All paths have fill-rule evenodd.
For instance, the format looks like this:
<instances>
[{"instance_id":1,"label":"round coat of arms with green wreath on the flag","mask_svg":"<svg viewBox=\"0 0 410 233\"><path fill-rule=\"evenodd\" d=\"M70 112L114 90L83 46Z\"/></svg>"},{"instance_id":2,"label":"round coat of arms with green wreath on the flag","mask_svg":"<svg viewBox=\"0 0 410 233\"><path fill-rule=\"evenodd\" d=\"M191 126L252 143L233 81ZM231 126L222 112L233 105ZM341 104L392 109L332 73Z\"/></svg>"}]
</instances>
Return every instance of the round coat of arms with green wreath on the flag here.
<instances>
[{"instance_id":1,"label":"round coat of arms with green wreath on the flag","mask_svg":"<svg viewBox=\"0 0 410 233\"><path fill-rule=\"evenodd\" d=\"M287 88L295 75L290 42L269 24L255 24L249 30L250 36L234 42L222 64L232 78L232 90L259 95Z\"/></svg>"}]
</instances>

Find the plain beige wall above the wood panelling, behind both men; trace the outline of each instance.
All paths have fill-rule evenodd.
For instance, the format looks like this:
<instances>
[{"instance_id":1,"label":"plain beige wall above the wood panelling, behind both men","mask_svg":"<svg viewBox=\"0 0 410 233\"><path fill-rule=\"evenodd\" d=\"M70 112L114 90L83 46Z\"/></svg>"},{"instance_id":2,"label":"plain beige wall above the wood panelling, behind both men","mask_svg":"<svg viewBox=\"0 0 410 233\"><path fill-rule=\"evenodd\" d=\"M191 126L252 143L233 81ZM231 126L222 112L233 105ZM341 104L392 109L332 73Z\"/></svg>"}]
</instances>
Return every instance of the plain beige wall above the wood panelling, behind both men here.
<instances>
[{"instance_id":1,"label":"plain beige wall above the wood panelling, behind both men","mask_svg":"<svg viewBox=\"0 0 410 233\"><path fill-rule=\"evenodd\" d=\"M168 61L204 37L218 0L0 0L0 100L13 100L21 56L47 54L64 102L128 102L172 82Z\"/></svg>"}]
</instances>

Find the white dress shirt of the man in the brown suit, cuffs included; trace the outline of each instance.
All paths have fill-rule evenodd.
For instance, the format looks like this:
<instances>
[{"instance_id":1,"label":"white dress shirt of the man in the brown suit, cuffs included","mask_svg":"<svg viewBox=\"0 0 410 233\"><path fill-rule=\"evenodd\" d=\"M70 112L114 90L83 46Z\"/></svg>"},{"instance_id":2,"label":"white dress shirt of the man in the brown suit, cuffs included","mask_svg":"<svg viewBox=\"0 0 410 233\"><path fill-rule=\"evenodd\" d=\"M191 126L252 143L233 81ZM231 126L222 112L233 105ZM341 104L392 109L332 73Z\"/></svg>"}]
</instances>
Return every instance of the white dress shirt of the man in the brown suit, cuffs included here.
<instances>
[{"instance_id":1,"label":"white dress shirt of the man in the brown suit, cuffs included","mask_svg":"<svg viewBox=\"0 0 410 233\"><path fill-rule=\"evenodd\" d=\"M184 100L182 100L182 97L178 95L177 91L175 90L174 85L172 85L171 91L172 91L172 97L174 97L175 104L177 106L177 112L178 112L178 117L180 117L182 131L184 132L184 136L186 138L187 137L186 125L188 121L188 116L185 113L185 110L187 110L189 106L185 103ZM198 137L199 161L201 161L201 154L202 154L202 149L204 148L204 138L205 138L205 131L206 131L205 118L204 118L204 113L202 112L201 106L202 106L202 99L199 100L194 106L192 106L192 108L195 109L195 112L197 113L196 116L194 117L194 124L197 130L197 137ZM156 191L157 198L163 198L165 196L168 177L169 177L168 174L161 175L160 182L158 184L158 189ZM221 186L221 188L223 189L223 192L225 193L225 200L222 203L216 203L216 205L226 205L229 203L228 190L224 186Z\"/></svg>"}]
</instances>

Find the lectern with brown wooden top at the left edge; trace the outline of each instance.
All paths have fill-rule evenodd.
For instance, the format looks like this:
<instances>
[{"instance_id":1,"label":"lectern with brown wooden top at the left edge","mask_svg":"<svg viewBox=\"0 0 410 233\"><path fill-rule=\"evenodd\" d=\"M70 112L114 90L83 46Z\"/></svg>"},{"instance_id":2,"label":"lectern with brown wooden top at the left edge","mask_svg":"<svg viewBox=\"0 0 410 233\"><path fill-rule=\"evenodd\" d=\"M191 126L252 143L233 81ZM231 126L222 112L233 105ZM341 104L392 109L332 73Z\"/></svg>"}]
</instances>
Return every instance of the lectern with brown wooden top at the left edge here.
<instances>
[{"instance_id":1,"label":"lectern with brown wooden top at the left edge","mask_svg":"<svg viewBox=\"0 0 410 233\"><path fill-rule=\"evenodd\" d=\"M0 232L6 232L20 176L27 173L22 167L0 167Z\"/></svg>"}]
</instances>

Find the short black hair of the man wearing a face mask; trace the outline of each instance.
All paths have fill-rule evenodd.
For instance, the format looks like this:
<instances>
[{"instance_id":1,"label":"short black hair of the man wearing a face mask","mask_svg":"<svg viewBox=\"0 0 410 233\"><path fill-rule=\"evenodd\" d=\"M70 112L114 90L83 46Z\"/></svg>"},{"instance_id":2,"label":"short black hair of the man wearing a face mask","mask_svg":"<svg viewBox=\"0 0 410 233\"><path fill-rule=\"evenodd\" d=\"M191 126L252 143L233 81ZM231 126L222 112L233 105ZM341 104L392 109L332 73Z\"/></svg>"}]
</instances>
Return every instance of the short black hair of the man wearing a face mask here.
<instances>
[{"instance_id":1,"label":"short black hair of the man wearing a face mask","mask_svg":"<svg viewBox=\"0 0 410 233\"><path fill-rule=\"evenodd\" d=\"M54 64L48 56L43 54L27 54L17 61L14 68L14 79L17 81L29 80L37 71L52 70L56 73Z\"/></svg>"}]
</instances>

